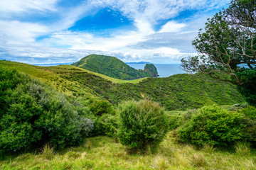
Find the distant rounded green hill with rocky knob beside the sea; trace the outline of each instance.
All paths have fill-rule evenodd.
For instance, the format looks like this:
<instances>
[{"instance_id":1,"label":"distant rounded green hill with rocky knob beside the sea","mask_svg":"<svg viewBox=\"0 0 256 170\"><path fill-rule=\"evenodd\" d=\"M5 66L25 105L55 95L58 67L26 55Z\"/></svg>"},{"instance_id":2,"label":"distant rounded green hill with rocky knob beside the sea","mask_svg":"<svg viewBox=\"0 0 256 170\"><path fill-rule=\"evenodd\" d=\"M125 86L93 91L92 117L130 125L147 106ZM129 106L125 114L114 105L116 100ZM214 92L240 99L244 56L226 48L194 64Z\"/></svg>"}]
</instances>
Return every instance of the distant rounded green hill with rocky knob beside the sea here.
<instances>
[{"instance_id":1,"label":"distant rounded green hill with rocky knob beside the sea","mask_svg":"<svg viewBox=\"0 0 256 170\"><path fill-rule=\"evenodd\" d=\"M72 65L92 72L105 74L115 79L139 79L142 77L157 77L157 70L154 64L146 64L145 69L134 69L129 67L117 57L105 55L88 55Z\"/></svg>"}]
</instances>

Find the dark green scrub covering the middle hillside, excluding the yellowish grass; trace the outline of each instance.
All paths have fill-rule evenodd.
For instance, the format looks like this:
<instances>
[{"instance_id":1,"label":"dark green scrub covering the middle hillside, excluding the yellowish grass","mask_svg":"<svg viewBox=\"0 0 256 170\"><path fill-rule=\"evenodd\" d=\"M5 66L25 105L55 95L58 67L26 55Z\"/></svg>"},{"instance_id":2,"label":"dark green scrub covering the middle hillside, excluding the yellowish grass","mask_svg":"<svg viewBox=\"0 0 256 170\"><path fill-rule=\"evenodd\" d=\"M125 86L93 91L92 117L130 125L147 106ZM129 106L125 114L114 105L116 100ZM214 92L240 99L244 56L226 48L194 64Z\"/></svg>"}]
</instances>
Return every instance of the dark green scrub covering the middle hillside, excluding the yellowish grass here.
<instances>
[{"instance_id":1,"label":"dark green scrub covering the middle hillside, excluding the yellowish grass","mask_svg":"<svg viewBox=\"0 0 256 170\"><path fill-rule=\"evenodd\" d=\"M148 78L138 84L113 84L106 79L93 77L91 74L78 74L78 72L61 77L89 87L114 105L123 100L148 97L171 111L200 108L213 103L232 105L243 102L235 86L228 83L214 84L189 74Z\"/></svg>"}]
</instances>

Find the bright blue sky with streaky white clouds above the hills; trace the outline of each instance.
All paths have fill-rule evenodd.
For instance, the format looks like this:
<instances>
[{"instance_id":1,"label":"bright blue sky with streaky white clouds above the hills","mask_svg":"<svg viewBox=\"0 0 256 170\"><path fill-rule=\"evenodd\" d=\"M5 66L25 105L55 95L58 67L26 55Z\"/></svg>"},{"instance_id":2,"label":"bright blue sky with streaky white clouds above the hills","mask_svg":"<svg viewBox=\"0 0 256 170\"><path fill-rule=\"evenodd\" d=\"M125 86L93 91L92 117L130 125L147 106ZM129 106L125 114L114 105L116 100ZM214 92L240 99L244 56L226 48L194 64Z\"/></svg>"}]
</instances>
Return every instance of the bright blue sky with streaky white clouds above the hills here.
<instances>
[{"instance_id":1,"label":"bright blue sky with streaky white clouds above the hills","mask_svg":"<svg viewBox=\"0 0 256 170\"><path fill-rule=\"evenodd\" d=\"M90 54L177 64L228 0L0 0L0 60L78 62Z\"/></svg>"}]
</instances>

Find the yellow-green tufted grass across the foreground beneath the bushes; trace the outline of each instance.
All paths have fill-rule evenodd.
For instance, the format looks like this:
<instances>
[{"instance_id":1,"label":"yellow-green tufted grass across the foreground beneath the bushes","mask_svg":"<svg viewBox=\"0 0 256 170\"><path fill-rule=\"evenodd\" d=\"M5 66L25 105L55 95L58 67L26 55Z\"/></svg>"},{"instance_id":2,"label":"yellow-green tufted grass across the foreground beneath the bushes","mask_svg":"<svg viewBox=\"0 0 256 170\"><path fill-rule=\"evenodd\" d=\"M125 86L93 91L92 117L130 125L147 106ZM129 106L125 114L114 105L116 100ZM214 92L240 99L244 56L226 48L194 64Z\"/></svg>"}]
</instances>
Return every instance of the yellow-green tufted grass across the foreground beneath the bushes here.
<instances>
[{"instance_id":1,"label":"yellow-green tufted grass across the foreground beneath the bushes","mask_svg":"<svg viewBox=\"0 0 256 170\"><path fill-rule=\"evenodd\" d=\"M208 146L209 147L209 146ZM171 133L157 152L127 154L110 137L91 137L83 145L55 152L46 159L43 152L10 156L0 162L0 169L256 169L256 150L237 154L223 149L181 145Z\"/></svg>"}]
</instances>

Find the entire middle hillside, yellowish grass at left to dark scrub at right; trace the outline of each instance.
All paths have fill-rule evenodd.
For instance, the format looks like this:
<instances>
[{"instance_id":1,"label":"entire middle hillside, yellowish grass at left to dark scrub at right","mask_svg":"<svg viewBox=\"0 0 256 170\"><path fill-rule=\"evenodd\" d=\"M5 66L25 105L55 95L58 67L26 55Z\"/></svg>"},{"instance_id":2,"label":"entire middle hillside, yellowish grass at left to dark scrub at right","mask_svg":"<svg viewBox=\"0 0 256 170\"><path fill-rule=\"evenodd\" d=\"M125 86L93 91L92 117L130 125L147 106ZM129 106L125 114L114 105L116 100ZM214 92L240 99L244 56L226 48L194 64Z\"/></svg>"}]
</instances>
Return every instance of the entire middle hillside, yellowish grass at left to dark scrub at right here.
<instances>
[{"instance_id":1,"label":"entire middle hillside, yellowish grass at left to dark scrub at right","mask_svg":"<svg viewBox=\"0 0 256 170\"><path fill-rule=\"evenodd\" d=\"M171 111L200 108L213 103L233 105L244 102L235 86L225 82L210 83L189 74L125 81L70 65L37 67L0 61L0 67L18 69L19 72L31 74L58 91L75 96L76 100L84 104L90 98L105 98L117 105L124 100L139 100L146 97L158 101Z\"/></svg>"}]
</instances>

